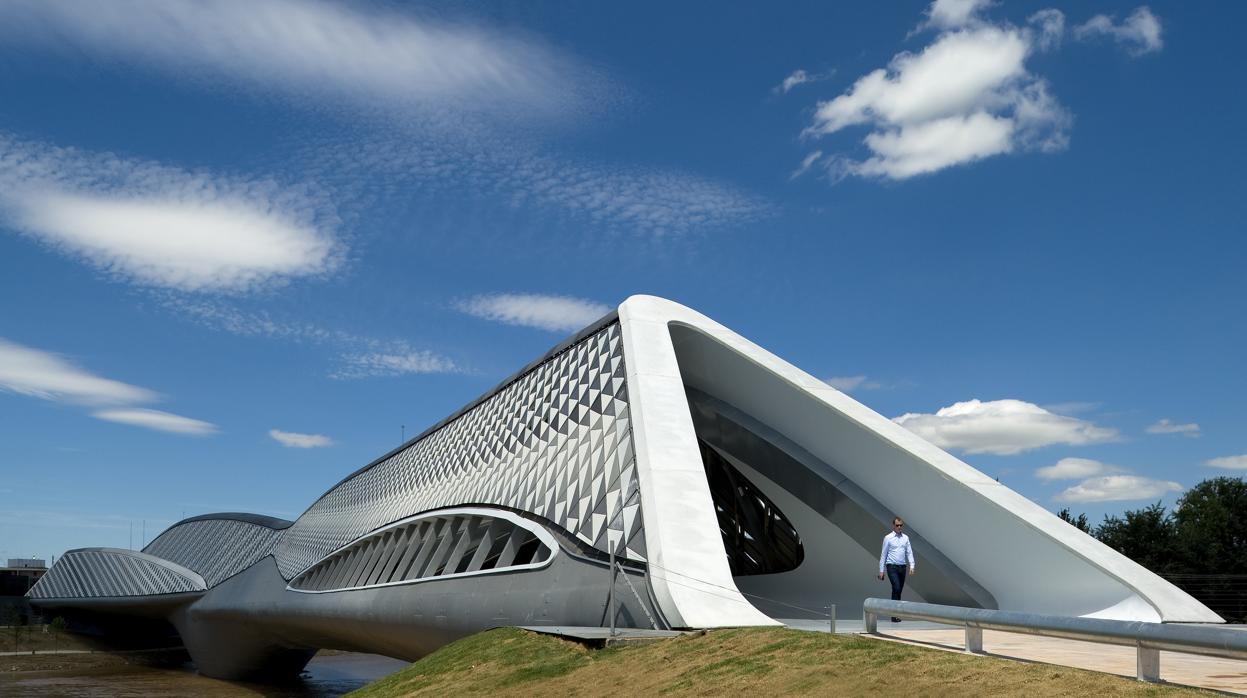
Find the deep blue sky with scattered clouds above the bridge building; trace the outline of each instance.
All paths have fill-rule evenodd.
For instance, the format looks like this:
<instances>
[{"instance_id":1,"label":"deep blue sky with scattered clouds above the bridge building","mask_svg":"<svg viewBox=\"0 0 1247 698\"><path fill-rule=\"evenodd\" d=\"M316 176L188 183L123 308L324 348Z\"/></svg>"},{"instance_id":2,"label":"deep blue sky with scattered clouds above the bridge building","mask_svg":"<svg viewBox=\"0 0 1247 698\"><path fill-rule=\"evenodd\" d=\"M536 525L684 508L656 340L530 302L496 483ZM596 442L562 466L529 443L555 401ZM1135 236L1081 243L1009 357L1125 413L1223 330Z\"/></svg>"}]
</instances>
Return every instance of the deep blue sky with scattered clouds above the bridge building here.
<instances>
[{"instance_id":1,"label":"deep blue sky with scattered clouds above the bridge building","mask_svg":"<svg viewBox=\"0 0 1247 698\"><path fill-rule=\"evenodd\" d=\"M0 4L0 557L294 519L635 293L1054 511L1242 475L1247 7L839 5Z\"/></svg>"}]
</instances>

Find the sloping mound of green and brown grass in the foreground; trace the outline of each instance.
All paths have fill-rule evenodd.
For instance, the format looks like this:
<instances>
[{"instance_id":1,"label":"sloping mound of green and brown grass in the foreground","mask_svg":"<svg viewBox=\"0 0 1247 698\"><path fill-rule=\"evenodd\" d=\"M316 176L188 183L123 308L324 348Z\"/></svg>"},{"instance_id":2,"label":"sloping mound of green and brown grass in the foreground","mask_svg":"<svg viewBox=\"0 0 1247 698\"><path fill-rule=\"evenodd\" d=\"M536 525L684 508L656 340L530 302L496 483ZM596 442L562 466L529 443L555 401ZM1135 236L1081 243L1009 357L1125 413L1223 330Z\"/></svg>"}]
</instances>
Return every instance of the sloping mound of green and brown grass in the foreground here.
<instances>
[{"instance_id":1,"label":"sloping mound of green and brown grass in the foreground","mask_svg":"<svg viewBox=\"0 0 1247 698\"><path fill-rule=\"evenodd\" d=\"M399 696L1210 696L853 636L739 628L586 649L515 628L449 644L353 698Z\"/></svg>"}]
</instances>

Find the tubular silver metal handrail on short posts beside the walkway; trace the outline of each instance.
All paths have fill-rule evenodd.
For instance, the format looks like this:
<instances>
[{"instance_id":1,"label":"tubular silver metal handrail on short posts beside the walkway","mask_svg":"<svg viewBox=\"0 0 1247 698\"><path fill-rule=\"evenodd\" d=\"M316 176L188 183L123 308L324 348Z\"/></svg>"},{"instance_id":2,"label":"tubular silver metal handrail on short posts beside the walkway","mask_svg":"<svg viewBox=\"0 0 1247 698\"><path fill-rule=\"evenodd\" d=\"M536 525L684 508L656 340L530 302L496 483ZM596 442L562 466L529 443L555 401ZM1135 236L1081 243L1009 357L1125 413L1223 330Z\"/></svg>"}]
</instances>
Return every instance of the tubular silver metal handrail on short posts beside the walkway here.
<instances>
[{"instance_id":1,"label":"tubular silver metal handrail on short posts beside the walkway","mask_svg":"<svg viewBox=\"0 0 1247 698\"><path fill-rule=\"evenodd\" d=\"M1139 651L1136 674L1140 681L1160 681L1160 652L1162 649L1247 659L1247 632L1226 627L1047 616L887 598L868 598L863 603L862 611L865 632L872 634L879 632L879 616L963 626L965 628L965 651L974 653L983 652L983 631L985 629L1135 647Z\"/></svg>"}]
</instances>

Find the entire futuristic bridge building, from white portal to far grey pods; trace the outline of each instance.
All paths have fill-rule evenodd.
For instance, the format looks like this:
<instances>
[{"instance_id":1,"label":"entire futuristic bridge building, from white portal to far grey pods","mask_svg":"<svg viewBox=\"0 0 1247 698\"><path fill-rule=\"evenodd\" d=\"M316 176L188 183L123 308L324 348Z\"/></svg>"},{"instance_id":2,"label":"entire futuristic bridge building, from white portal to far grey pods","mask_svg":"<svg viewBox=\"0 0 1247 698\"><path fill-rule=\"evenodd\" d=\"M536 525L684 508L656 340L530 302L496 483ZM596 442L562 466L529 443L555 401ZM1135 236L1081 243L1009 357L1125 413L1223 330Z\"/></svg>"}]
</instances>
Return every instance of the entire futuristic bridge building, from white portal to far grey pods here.
<instances>
[{"instance_id":1,"label":"entire futuristic bridge building, from white portal to far grey pods","mask_svg":"<svg viewBox=\"0 0 1247 698\"><path fill-rule=\"evenodd\" d=\"M205 676L297 673L317 648L414 659L496 626L604 626L611 608L655 628L779 624L828 603L859 616L887 593L894 515L914 601L1221 622L853 398L643 295L297 521L214 514L142 551L70 551L29 598L130 632L165 618Z\"/></svg>"}]
</instances>

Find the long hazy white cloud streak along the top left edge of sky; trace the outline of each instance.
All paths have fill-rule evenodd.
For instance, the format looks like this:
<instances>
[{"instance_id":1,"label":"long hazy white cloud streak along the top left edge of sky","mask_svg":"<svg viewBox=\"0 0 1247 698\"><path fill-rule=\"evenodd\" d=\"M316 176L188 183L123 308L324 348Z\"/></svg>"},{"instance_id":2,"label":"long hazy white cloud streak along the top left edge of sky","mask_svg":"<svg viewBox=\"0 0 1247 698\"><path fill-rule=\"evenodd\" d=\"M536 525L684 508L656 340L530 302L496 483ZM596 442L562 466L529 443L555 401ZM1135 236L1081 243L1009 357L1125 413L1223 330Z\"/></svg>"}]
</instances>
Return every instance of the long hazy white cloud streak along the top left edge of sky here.
<instances>
[{"instance_id":1,"label":"long hazy white cloud streak along the top left edge of sky","mask_svg":"<svg viewBox=\"0 0 1247 698\"><path fill-rule=\"evenodd\" d=\"M10 0L11 44L224 80L334 105L557 113L585 72L535 41L315 0ZM587 76L586 76L587 77Z\"/></svg>"}]
</instances>

